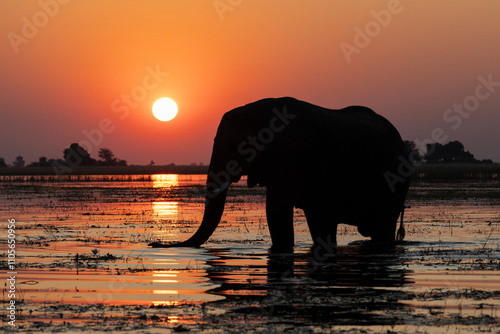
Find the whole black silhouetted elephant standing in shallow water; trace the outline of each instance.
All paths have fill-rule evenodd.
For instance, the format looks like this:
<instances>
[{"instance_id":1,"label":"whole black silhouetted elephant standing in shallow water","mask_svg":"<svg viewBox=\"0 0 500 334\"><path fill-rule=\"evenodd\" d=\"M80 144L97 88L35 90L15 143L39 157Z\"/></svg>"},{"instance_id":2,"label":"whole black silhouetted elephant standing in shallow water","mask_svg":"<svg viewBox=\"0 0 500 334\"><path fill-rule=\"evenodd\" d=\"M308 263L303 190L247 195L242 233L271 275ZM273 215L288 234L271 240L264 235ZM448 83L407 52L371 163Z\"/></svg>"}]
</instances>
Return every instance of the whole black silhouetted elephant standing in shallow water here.
<instances>
[{"instance_id":1,"label":"whole black silhouetted elephant standing in shallow water","mask_svg":"<svg viewBox=\"0 0 500 334\"><path fill-rule=\"evenodd\" d=\"M401 168L406 163L407 167ZM378 242L404 237L404 201L411 178L398 131L369 108L326 109L284 97L227 112L214 140L205 212L197 232L180 243L199 247L221 220L229 185L248 176L266 187L272 250L294 246L293 209L304 210L314 245L336 245L338 224Z\"/></svg>"}]
</instances>

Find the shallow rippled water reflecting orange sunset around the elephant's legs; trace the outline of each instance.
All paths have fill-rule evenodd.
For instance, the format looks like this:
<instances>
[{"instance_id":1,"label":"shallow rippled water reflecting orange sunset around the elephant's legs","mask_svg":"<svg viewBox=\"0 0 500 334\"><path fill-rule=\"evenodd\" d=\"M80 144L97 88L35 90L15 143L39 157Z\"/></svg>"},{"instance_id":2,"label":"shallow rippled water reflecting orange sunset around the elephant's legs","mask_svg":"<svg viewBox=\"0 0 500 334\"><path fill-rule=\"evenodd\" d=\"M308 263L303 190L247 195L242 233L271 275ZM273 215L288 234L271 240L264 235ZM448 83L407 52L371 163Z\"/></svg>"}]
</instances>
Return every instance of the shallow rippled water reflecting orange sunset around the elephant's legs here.
<instances>
[{"instance_id":1,"label":"shallow rippled water reflecting orange sunset around the elephant's legs","mask_svg":"<svg viewBox=\"0 0 500 334\"><path fill-rule=\"evenodd\" d=\"M270 255L264 190L242 180L203 248L149 248L194 233L204 183L203 175L0 182L2 275L7 219L16 220L17 324L410 332L500 324L498 181L414 183L404 242L372 245L341 225L336 252L318 256L301 210L294 254Z\"/></svg>"}]
</instances>

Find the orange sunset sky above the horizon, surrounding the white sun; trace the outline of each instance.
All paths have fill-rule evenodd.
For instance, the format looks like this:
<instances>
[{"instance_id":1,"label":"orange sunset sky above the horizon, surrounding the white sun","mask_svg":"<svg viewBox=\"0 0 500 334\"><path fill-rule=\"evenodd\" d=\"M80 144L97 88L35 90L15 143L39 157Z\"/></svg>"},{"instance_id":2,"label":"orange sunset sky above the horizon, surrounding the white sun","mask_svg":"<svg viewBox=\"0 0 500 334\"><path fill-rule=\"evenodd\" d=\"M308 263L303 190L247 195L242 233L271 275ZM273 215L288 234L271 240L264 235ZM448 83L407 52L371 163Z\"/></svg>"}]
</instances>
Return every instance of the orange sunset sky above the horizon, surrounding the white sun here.
<instances>
[{"instance_id":1,"label":"orange sunset sky above the horizon, surrounding the white sun","mask_svg":"<svg viewBox=\"0 0 500 334\"><path fill-rule=\"evenodd\" d=\"M85 141L208 164L222 115L267 97L364 105L417 144L500 162L497 0L0 0L0 157ZM157 99L176 101L169 122Z\"/></svg>"}]
</instances>

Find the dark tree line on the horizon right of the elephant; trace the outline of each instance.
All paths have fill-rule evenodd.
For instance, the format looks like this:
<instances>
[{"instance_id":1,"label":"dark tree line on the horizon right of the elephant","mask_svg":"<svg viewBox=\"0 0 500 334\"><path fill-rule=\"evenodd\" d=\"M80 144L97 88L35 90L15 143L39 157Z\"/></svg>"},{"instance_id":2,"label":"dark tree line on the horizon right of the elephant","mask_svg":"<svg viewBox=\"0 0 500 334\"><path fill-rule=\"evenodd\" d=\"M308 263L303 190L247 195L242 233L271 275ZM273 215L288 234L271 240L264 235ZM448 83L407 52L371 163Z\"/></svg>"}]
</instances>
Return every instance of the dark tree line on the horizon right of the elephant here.
<instances>
[{"instance_id":1,"label":"dark tree line on the horizon right of the elephant","mask_svg":"<svg viewBox=\"0 0 500 334\"><path fill-rule=\"evenodd\" d=\"M465 151L459 141L450 141L446 144L430 143L426 145L426 152L421 154L413 141L405 140L406 147L412 152L416 162L428 164L436 163L493 163L491 159L477 160L474 154Z\"/></svg>"}]
</instances>

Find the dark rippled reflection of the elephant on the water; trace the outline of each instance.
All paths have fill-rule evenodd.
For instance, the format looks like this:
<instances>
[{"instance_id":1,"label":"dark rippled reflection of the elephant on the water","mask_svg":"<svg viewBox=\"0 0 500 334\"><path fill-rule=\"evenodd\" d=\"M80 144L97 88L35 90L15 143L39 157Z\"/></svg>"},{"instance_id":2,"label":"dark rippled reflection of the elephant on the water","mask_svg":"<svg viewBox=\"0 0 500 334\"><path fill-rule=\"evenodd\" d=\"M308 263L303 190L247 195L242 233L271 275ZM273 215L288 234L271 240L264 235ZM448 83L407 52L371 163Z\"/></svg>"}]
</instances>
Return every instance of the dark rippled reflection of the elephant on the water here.
<instances>
[{"instance_id":1,"label":"dark rippled reflection of the elephant on the water","mask_svg":"<svg viewBox=\"0 0 500 334\"><path fill-rule=\"evenodd\" d=\"M252 314L259 321L297 317L301 323L335 319L337 324L383 325L392 324L395 313L409 312L410 306L398 301L410 299L411 293L393 289L413 283L401 256L404 248L365 242L320 257L314 249L271 253L267 262L253 254L244 264L231 250L208 250L213 258L207 261L207 277L220 285L209 293L246 305L235 315Z\"/></svg>"}]
</instances>

